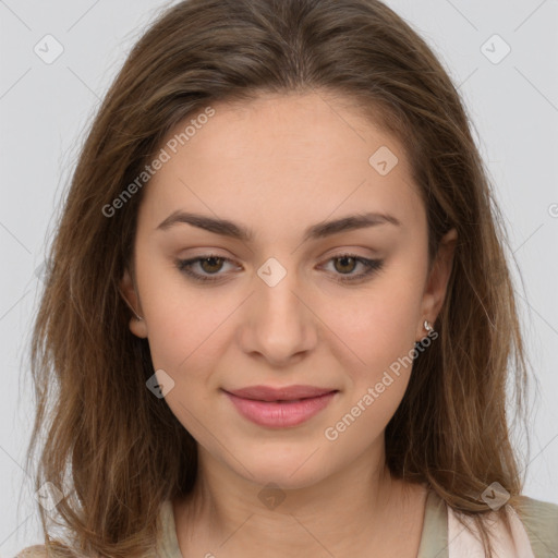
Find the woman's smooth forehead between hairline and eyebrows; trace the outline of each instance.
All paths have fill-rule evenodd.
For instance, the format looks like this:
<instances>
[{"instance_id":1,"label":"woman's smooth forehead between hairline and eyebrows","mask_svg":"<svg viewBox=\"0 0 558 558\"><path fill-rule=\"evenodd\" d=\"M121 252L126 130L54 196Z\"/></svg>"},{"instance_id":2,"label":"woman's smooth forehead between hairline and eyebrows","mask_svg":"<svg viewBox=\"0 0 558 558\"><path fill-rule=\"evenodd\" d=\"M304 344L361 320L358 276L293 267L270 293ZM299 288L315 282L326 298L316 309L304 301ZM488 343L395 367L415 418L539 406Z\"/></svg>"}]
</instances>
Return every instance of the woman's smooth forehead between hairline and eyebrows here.
<instances>
[{"instance_id":1,"label":"woman's smooth forehead between hairline and eyebrows","mask_svg":"<svg viewBox=\"0 0 558 558\"><path fill-rule=\"evenodd\" d=\"M151 220L177 209L282 228L355 210L421 219L402 146L347 99L269 94L210 107L163 140L169 159L144 198Z\"/></svg>"}]
</instances>

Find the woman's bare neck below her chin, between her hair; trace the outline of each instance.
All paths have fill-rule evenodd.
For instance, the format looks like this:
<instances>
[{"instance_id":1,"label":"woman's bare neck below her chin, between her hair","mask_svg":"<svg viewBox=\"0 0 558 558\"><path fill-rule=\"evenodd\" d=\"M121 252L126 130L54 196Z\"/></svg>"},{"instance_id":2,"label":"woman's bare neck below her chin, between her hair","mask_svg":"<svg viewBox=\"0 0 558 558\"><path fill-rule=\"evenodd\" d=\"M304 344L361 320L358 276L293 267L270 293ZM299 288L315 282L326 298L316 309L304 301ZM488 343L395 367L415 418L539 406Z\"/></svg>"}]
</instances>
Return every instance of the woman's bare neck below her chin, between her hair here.
<instances>
[{"instance_id":1,"label":"woman's bare neck below her chin, between her hair","mask_svg":"<svg viewBox=\"0 0 558 558\"><path fill-rule=\"evenodd\" d=\"M333 556L360 556L359 549L385 544L393 523L401 526L410 518L403 510L411 493L390 475L383 447L339 473L288 488L254 483L203 448L198 462L194 490L175 507L184 556L194 541L205 548L201 556L312 556L319 547Z\"/></svg>"}]
</instances>

